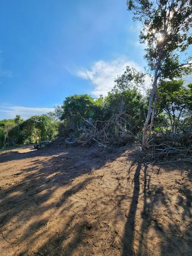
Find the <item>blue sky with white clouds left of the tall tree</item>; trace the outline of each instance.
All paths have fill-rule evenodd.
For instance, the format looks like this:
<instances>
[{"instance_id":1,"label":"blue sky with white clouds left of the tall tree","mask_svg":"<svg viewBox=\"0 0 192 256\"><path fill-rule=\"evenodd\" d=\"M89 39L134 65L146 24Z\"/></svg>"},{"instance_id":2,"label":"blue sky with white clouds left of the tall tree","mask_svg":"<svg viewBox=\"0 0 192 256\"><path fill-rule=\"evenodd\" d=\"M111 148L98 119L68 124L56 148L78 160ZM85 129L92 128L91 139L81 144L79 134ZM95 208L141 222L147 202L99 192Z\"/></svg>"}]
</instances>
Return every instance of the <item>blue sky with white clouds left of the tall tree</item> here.
<instances>
[{"instance_id":1,"label":"blue sky with white clouds left of the tall tree","mask_svg":"<svg viewBox=\"0 0 192 256\"><path fill-rule=\"evenodd\" d=\"M1 1L0 119L106 95L126 65L144 67L139 29L125 0Z\"/></svg>"}]
</instances>

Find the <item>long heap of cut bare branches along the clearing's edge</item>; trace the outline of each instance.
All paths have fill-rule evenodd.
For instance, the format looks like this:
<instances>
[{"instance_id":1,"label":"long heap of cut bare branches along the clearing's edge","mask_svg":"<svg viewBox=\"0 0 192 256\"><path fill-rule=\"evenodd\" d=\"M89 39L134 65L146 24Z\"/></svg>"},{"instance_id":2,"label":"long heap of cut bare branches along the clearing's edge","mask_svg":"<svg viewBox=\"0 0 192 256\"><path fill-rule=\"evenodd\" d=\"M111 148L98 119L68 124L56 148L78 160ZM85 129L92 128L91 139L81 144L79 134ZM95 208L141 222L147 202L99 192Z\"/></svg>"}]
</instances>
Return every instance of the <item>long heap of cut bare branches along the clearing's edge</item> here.
<instances>
[{"instance_id":1,"label":"long heap of cut bare branches along the clearing's edge","mask_svg":"<svg viewBox=\"0 0 192 256\"><path fill-rule=\"evenodd\" d=\"M137 136L130 130L123 130L119 126L119 115L108 121L96 121L94 124L84 119L81 128L68 127L64 129L58 145L65 146L94 146L94 151L125 146L136 142L139 150L134 151L137 159L147 165L164 164L168 162L192 162L192 132L153 131L147 146L139 142L142 136ZM117 122L118 121L118 122ZM140 134L141 135L141 134Z\"/></svg>"}]
</instances>

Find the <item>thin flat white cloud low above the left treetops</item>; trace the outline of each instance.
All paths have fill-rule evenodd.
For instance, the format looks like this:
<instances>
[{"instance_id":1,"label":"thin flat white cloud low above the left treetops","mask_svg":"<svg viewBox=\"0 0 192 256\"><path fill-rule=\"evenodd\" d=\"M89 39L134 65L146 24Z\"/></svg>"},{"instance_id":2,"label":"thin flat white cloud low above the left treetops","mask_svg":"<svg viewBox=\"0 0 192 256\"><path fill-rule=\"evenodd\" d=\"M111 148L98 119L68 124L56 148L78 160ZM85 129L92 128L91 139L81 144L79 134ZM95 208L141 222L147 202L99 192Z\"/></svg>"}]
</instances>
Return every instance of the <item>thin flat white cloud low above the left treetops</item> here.
<instances>
[{"instance_id":1,"label":"thin flat white cloud low above the left treetops","mask_svg":"<svg viewBox=\"0 0 192 256\"><path fill-rule=\"evenodd\" d=\"M31 116L47 114L49 111L54 111L54 108L38 108L38 107L20 107L20 106L0 106L0 118L15 118L19 114L21 118L27 119Z\"/></svg>"}]
</instances>

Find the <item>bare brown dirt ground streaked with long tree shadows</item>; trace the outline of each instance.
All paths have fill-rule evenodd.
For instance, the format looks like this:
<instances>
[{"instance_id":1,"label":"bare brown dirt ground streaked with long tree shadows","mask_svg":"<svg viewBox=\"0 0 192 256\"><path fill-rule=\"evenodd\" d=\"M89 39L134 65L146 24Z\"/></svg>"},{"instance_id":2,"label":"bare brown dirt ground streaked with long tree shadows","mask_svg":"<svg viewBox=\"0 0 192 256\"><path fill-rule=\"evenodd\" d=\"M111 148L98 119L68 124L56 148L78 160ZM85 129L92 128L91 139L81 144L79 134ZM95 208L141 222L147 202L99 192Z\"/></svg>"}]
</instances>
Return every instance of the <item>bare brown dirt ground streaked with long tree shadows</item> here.
<instances>
[{"instance_id":1,"label":"bare brown dirt ground streaked with long tree shadows","mask_svg":"<svg viewBox=\"0 0 192 256\"><path fill-rule=\"evenodd\" d=\"M126 149L1 151L0 255L192 255L190 166Z\"/></svg>"}]
</instances>

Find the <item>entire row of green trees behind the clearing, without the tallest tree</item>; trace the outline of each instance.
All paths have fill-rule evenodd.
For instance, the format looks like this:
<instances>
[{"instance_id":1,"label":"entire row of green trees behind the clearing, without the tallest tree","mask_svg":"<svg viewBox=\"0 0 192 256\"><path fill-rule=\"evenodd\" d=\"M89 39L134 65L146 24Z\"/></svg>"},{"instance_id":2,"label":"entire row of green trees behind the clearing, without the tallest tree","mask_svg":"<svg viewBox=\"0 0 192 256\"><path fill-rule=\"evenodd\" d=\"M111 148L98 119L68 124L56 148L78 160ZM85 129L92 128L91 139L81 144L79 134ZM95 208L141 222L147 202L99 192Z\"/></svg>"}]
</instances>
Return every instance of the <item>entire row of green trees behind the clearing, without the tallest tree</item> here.
<instances>
[{"instance_id":1,"label":"entire row of green trees behind the clearing, without the tallest tree","mask_svg":"<svg viewBox=\"0 0 192 256\"><path fill-rule=\"evenodd\" d=\"M150 84L150 78L148 83ZM0 121L0 147L38 143L57 135L70 143L94 141L111 145L127 143L130 138L142 141L142 130L148 112L150 89L146 88L146 74L127 66L115 79L115 86L106 97L93 98L87 94L66 97L62 106L47 115L27 120ZM184 81L161 80L151 117L152 134L174 135L192 130L192 84ZM153 118L153 120L152 120Z\"/></svg>"}]
</instances>

